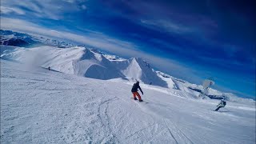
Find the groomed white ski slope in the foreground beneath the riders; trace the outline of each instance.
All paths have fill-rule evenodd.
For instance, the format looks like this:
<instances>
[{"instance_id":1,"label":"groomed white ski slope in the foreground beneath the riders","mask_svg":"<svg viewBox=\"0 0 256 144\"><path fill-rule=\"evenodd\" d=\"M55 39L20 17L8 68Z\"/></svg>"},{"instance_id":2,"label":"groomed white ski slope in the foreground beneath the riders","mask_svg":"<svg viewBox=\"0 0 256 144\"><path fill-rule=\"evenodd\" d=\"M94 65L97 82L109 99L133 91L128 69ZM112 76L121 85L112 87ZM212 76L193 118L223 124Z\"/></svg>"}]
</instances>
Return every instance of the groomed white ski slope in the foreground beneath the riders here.
<instances>
[{"instance_id":1,"label":"groomed white ski slope in the foreground beneath the riders","mask_svg":"<svg viewBox=\"0 0 256 144\"><path fill-rule=\"evenodd\" d=\"M254 143L255 102L99 80L1 59L1 143Z\"/></svg>"}]
</instances>

